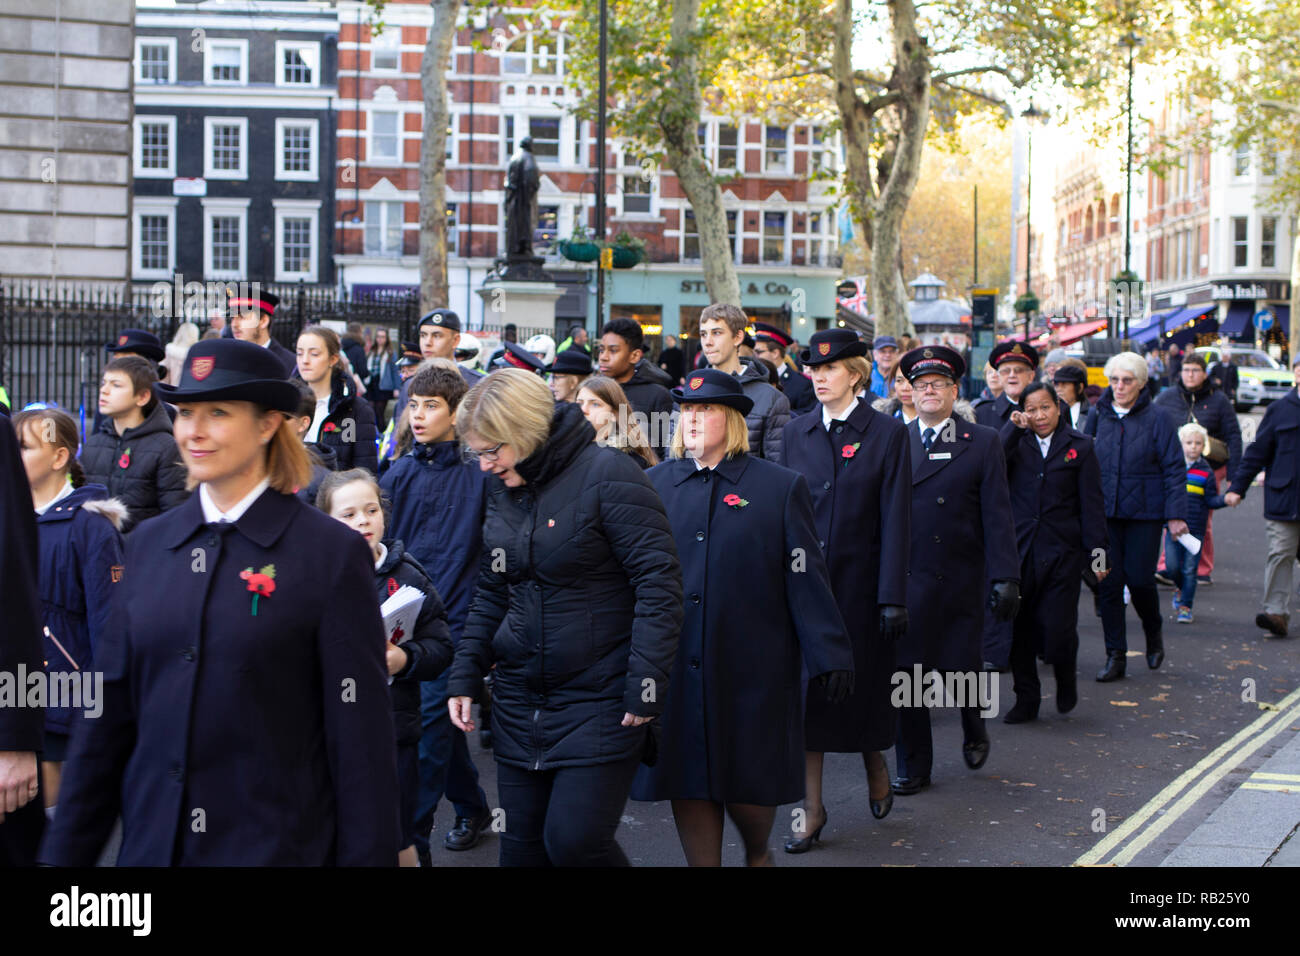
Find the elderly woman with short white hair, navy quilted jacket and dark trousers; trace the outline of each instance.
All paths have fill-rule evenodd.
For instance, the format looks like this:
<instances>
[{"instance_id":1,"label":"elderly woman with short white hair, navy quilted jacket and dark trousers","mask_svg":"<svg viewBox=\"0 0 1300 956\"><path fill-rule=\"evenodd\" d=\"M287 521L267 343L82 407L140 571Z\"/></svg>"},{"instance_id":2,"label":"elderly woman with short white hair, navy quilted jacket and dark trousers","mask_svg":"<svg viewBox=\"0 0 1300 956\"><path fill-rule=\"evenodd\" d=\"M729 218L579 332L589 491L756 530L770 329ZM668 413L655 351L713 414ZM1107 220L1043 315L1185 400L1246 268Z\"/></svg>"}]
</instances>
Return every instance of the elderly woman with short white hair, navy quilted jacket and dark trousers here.
<instances>
[{"instance_id":1,"label":"elderly woman with short white hair, navy quilted jacket and dark trousers","mask_svg":"<svg viewBox=\"0 0 1300 956\"><path fill-rule=\"evenodd\" d=\"M1152 406L1147 362L1135 352L1119 352L1106 362L1105 372L1110 388L1084 428L1096 440L1110 538L1112 567L1098 601L1106 640L1100 682L1124 676L1124 585L1147 636L1147 666L1154 670L1164 662L1164 615L1156 593L1161 525L1167 523L1174 538L1187 532L1183 450L1169 418Z\"/></svg>"}]
</instances>

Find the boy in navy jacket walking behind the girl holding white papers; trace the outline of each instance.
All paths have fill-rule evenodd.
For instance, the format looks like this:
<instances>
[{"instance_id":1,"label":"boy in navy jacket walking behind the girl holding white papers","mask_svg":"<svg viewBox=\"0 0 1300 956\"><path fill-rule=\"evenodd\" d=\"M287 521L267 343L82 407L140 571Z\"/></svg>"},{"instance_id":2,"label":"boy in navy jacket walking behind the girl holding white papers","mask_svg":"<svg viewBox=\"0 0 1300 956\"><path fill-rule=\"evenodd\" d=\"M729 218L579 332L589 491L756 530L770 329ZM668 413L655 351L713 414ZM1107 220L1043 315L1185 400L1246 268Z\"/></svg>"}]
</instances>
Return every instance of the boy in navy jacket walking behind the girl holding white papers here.
<instances>
[{"instance_id":1,"label":"boy in navy jacket walking behind the girl holding white papers","mask_svg":"<svg viewBox=\"0 0 1300 956\"><path fill-rule=\"evenodd\" d=\"M460 641L469 613L488 502L486 473L462 458L456 441L456 408L467 392L460 369L450 360L436 359L420 369L407 388L406 412L415 442L380 479L393 502L389 533L406 542L442 596L452 643ZM425 682L420 693L416 852L428 866L433 814L443 796L456 810L455 826L443 842L447 849L476 847L490 814L465 735L451 726L447 714L447 675Z\"/></svg>"}]
</instances>

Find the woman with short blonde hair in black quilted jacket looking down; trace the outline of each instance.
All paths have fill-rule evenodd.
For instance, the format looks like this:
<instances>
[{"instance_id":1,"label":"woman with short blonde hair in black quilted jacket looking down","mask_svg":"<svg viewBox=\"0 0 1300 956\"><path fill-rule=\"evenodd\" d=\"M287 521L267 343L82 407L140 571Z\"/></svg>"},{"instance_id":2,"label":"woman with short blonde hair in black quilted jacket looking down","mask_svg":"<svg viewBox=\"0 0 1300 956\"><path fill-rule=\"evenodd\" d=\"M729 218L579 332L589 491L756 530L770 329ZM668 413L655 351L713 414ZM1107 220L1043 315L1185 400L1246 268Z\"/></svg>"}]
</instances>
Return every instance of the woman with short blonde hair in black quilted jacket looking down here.
<instances>
[{"instance_id":1,"label":"woman with short blonde hair in black quilted jacket looking down","mask_svg":"<svg viewBox=\"0 0 1300 956\"><path fill-rule=\"evenodd\" d=\"M668 518L641 468L529 372L488 376L456 425L495 477L447 706L473 731L497 666L500 865L625 866L614 836L682 619Z\"/></svg>"}]
</instances>

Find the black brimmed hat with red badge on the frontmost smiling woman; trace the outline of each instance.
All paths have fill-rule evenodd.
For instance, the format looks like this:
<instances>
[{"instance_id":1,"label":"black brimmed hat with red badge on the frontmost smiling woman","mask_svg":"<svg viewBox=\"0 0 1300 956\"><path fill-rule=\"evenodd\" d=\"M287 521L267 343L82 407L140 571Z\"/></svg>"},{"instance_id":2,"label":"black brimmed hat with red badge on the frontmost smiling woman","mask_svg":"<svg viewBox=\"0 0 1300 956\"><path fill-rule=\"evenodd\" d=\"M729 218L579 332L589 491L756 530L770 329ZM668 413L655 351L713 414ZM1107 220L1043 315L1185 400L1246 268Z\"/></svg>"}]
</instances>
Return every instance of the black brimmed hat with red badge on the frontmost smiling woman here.
<instances>
[{"instance_id":1,"label":"black brimmed hat with red badge on the frontmost smiling woman","mask_svg":"<svg viewBox=\"0 0 1300 956\"><path fill-rule=\"evenodd\" d=\"M285 380L285 367L273 351L238 338L195 342L181 365L181 384L153 384L164 402L252 402L264 408L298 411L302 393Z\"/></svg>"}]
</instances>

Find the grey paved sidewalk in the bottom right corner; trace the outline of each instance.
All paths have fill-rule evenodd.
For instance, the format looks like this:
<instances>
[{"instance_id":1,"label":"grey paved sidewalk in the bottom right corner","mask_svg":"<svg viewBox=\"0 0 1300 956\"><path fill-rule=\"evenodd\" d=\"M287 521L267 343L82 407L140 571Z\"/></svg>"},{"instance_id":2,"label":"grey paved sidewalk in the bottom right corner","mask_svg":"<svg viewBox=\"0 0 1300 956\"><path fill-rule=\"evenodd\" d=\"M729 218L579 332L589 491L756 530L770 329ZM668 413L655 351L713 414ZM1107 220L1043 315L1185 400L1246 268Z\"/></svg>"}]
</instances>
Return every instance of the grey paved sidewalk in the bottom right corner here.
<instances>
[{"instance_id":1,"label":"grey paved sidewalk in the bottom right corner","mask_svg":"<svg viewBox=\"0 0 1300 956\"><path fill-rule=\"evenodd\" d=\"M1300 727L1161 866L1300 866Z\"/></svg>"}]
</instances>

